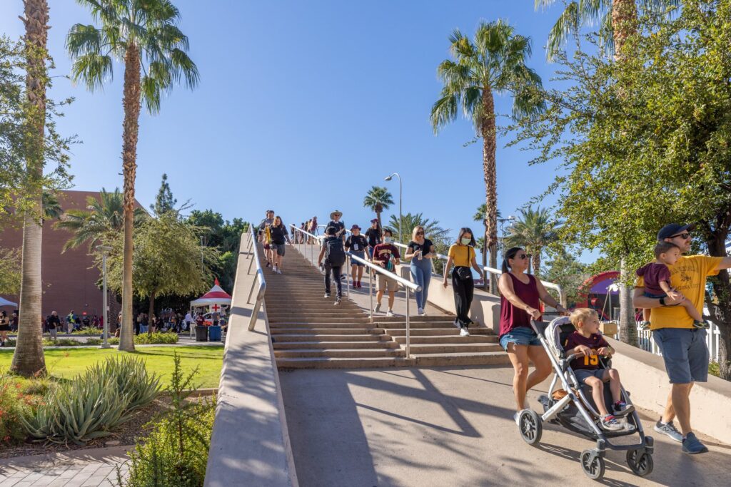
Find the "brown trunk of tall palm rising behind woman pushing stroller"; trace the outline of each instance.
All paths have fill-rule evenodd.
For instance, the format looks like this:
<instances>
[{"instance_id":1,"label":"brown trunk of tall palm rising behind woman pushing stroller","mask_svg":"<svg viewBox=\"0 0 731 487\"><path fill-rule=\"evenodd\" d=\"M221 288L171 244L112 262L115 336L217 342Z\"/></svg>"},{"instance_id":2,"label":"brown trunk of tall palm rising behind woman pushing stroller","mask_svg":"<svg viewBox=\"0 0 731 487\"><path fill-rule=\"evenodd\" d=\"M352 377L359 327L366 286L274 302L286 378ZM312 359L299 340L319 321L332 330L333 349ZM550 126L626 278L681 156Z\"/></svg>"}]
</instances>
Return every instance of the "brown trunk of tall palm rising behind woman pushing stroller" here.
<instances>
[{"instance_id":1,"label":"brown trunk of tall palm rising behind woman pushing stroller","mask_svg":"<svg viewBox=\"0 0 731 487\"><path fill-rule=\"evenodd\" d=\"M498 243L498 193L497 175L495 161L496 131L495 131L495 101L493 92L489 87L482 89L482 110L485 118L482 119L482 172L485 176L485 204L487 228L485 239L490 248L490 266L497 266L497 243ZM490 292L497 294L497 279L490 275Z\"/></svg>"}]
</instances>

